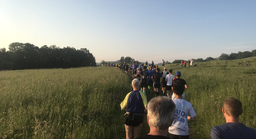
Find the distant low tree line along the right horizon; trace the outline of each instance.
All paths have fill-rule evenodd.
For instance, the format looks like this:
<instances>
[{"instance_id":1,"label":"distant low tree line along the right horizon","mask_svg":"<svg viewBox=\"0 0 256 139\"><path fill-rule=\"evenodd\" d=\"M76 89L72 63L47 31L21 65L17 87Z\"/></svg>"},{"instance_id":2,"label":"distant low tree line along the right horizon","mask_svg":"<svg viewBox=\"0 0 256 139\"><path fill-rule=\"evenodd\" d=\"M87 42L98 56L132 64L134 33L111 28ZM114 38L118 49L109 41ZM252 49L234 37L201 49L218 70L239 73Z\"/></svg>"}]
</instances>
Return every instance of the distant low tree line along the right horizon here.
<instances>
[{"instance_id":1,"label":"distant low tree line along the right horizon","mask_svg":"<svg viewBox=\"0 0 256 139\"><path fill-rule=\"evenodd\" d=\"M193 59L194 62L207 62L211 60L235 60L235 59L242 59L242 58L250 58L256 56L256 49L252 50L252 52L244 51L244 52L238 52L238 53L231 53L231 54L224 54L222 53L218 58L212 58L208 57L206 59L198 58ZM181 59L175 59L172 63L180 63Z\"/></svg>"}]
</instances>

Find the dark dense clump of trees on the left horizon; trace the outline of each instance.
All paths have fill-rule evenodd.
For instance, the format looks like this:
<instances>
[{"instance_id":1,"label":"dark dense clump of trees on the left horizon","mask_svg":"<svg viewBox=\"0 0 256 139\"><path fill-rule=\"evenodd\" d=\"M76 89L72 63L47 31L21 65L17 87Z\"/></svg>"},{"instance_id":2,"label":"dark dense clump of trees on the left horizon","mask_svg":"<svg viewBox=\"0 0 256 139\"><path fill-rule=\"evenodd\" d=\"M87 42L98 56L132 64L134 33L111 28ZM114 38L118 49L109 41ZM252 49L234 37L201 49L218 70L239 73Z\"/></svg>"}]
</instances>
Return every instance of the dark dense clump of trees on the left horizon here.
<instances>
[{"instance_id":1,"label":"dark dense clump of trees on the left horizon","mask_svg":"<svg viewBox=\"0 0 256 139\"><path fill-rule=\"evenodd\" d=\"M95 57L86 48L11 43L9 51L0 49L0 70L48 69L96 66Z\"/></svg>"}]
</instances>

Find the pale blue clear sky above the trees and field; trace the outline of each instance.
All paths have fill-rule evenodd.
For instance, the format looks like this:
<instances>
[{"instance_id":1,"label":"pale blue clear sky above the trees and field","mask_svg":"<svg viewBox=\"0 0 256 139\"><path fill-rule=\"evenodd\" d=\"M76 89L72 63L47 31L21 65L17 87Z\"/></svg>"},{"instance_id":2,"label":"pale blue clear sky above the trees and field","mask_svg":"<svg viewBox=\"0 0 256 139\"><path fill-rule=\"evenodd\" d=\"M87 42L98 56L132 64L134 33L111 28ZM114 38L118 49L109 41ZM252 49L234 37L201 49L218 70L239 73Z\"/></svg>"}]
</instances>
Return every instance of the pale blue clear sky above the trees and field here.
<instances>
[{"instance_id":1,"label":"pale blue clear sky above the trees and field","mask_svg":"<svg viewBox=\"0 0 256 139\"><path fill-rule=\"evenodd\" d=\"M256 49L256 0L0 0L0 48L87 48L160 63Z\"/></svg>"}]
</instances>

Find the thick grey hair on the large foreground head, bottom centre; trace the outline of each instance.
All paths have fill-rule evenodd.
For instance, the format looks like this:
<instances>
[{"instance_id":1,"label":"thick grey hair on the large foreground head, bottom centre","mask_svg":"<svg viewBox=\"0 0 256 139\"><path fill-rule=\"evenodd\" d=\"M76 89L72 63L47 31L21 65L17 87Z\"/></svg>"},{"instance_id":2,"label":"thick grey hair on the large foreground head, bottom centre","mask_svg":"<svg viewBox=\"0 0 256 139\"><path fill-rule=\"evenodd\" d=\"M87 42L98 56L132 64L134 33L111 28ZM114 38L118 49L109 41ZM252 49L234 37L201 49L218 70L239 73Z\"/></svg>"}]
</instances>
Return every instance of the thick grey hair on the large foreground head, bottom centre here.
<instances>
[{"instance_id":1,"label":"thick grey hair on the large foreground head, bottom centre","mask_svg":"<svg viewBox=\"0 0 256 139\"><path fill-rule=\"evenodd\" d=\"M171 98L158 96L148 102L148 125L165 130L172 125L176 105Z\"/></svg>"}]
</instances>

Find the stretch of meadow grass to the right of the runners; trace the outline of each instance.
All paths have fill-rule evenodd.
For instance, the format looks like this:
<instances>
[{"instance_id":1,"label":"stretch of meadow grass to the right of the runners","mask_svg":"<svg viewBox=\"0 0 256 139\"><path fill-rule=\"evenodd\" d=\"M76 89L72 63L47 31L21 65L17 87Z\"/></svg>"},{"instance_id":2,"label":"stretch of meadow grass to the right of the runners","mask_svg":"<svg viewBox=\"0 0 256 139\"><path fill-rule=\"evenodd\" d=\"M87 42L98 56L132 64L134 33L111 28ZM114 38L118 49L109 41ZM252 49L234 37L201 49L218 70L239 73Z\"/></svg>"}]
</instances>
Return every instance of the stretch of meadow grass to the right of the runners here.
<instances>
[{"instance_id":1,"label":"stretch of meadow grass to the right of the runners","mask_svg":"<svg viewBox=\"0 0 256 139\"><path fill-rule=\"evenodd\" d=\"M250 60L252 67L239 67L241 61ZM173 74L179 70L181 78L189 88L185 90L189 101L197 114L196 122L189 122L192 139L209 138L212 127L222 125L225 119L222 113L223 102L228 97L238 98L243 104L240 122L256 128L256 57L233 61L195 62L197 67L180 68L178 64L167 65Z\"/></svg>"}]
</instances>

